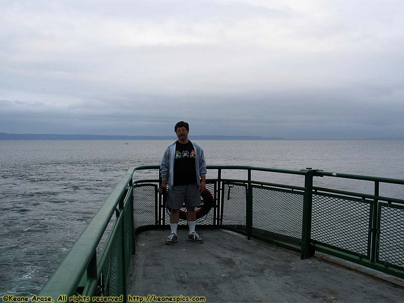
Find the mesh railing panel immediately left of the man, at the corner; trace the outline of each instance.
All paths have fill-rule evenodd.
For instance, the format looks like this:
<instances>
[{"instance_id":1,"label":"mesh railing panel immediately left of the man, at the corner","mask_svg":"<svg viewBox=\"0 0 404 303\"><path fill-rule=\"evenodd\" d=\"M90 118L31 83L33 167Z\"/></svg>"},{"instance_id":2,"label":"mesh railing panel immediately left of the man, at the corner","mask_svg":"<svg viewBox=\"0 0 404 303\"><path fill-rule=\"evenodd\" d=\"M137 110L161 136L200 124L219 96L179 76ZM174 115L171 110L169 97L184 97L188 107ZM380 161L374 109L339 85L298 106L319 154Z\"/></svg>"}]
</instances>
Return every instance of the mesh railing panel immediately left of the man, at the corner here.
<instances>
[{"instance_id":1,"label":"mesh railing panel immediately left of the man, at the corner","mask_svg":"<svg viewBox=\"0 0 404 303\"><path fill-rule=\"evenodd\" d=\"M135 229L140 226L155 225L157 214L157 185L133 186L133 225Z\"/></svg>"}]
</instances>

